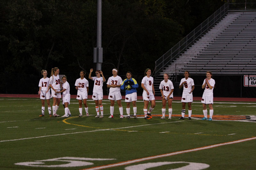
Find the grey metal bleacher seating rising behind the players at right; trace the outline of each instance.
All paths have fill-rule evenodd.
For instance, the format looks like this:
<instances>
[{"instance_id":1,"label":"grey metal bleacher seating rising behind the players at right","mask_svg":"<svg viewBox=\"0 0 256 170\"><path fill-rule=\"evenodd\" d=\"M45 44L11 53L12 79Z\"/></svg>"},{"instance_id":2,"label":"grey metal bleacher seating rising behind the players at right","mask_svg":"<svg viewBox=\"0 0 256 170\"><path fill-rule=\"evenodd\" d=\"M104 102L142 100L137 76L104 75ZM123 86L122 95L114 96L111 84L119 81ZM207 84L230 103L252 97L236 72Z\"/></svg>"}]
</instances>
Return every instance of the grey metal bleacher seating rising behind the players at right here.
<instances>
[{"instance_id":1,"label":"grey metal bleacher seating rising behind the players at right","mask_svg":"<svg viewBox=\"0 0 256 170\"><path fill-rule=\"evenodd\" d=\"M183 74L256 74L256 11L232 11L165 67Z\"/></svg>"}]
</instances>

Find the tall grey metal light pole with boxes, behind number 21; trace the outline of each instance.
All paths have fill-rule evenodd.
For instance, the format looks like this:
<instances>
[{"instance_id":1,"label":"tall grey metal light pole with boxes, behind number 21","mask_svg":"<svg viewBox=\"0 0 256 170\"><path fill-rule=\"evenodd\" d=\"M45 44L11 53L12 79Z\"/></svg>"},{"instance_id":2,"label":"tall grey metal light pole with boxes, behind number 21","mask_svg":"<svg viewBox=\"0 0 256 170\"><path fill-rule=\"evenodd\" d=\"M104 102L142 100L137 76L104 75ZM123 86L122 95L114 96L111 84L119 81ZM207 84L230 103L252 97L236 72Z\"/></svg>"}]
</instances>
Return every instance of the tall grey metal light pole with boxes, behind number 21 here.
<instances>
[{"instance_id":1,"label":"tall grey metal light pole with boxes, behind number 21","mask_svg":"<svg viewBox=\"0 0 256 170\"><path fill-rule=\"evenodd\" d=\"M96 64L96 69L101 70L103 62L103 48L101 48L101 0L97 2L97 47L93 49L93 63Z\"/></svg>"}]
</instances>

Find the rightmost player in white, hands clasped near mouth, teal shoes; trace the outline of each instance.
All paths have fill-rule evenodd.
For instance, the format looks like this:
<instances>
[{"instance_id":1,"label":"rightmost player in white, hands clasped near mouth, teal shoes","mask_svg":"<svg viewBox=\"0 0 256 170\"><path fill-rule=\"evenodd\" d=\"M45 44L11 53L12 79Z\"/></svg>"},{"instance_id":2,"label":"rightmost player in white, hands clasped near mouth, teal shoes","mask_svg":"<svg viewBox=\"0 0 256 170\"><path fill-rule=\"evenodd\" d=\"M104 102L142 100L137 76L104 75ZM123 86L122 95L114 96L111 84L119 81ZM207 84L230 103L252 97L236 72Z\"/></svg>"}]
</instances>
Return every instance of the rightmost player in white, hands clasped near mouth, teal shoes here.
<instances>
[{"instance_id":1,"label":"rightmost player in white, hands clasped near mouth, teal shoes","mask_svg":"<svg viewBox=\"0 0 256 170\"><path fill-rule=\"evenodd\" d=\"M207 120L207 104L209 105L210 109L210 118L208 121L212 120L212 115L213 115L213 88L215 85L215 80L212 79L212 72L207 71L206 72L206 78L204 79L204 83L202 85L202 89L204 89L203 97L201 102L203 103L203 113L204 113L204 118L201 120Z\"/></svg>"}]
</instances>

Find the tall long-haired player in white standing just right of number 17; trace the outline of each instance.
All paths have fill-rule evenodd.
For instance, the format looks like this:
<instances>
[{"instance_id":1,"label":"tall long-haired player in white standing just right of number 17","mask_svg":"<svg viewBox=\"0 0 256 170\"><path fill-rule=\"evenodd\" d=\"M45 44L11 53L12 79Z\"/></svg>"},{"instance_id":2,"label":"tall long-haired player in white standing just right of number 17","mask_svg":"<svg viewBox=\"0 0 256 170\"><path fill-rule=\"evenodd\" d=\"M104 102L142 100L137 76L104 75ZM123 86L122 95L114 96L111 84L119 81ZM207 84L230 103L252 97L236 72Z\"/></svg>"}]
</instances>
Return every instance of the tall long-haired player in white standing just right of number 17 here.
<instances>
[{"instance_id":1,"label":"tall long-haired player in white standing just right of number 17","mask_svg":"<svg viewBox=\"0 0 256 170\"><path fill-rule=\"evenodd\" d=\"M56 93L56 92L60 91L59 73L60 73L60 70L57 67L52 68L52 73L51 73L51 77L50 77L50 81L49 81L50 87L52 88L51 89L52 100L53 100L52 112L53 112L54 117L60 116L60 115L57 115L57 110L60 106L61 94Z\"/></svg>"}]
</instances>

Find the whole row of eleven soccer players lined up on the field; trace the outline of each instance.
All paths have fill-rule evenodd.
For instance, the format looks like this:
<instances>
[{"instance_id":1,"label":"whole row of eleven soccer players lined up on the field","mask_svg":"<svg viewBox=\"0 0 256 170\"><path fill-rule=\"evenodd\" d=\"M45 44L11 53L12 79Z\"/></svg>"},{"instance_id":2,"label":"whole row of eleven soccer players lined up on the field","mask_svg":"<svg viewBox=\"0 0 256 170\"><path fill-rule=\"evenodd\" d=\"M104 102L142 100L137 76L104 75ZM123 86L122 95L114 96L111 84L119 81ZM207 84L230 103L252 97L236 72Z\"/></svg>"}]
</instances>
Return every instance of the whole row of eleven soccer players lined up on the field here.
<instances>
[{"instance_id":1,"label":"whole row of eleven soccer players lined up on the field","mask_svg":"<svg viewBox=\"0 0 256 170\"><path fill-rule=\"evenodd\" d=\"M68 109L68 105L70 104L70 86L67 81L67 77L63 76L59 78L59 72L60 70L55 67L52 68L51 77L47 77L47 71L42 70L41 73L44 76L39 81L39 91L38 94L40 95L40 99L42 101L42 114L40 116L44 116L44 110L45 110L45 100L47 101L48 105L48 112L50 116L57 117L59 116L57 114L57 110L60 105L60 98L62 93L62 104L65 108L65 114L61 117L68 117L71 116L71 113ZM95 77L92 77L93 69L90 69L89 79L94 81L93 85L93 94L92 99L95 101L95 109L97 115L95 117L103 118L103 105L102 105L102 99L103 99L103 82L106 81L103 72L100 70L95 71ZM125 90L125 102L126 102L126 118L130 118L130 103L132 102L133 105L133 117L137 118L137 88L139 87L137 81L132 78L132 73L127 72L126 73L126 79L124 81L121 77L119 77L118 70L113 69L112 70L113 76L108 78L107 81L107 87L109 88L109 95L108 99L110 100L110 116L109 118L113 118L114 114L114 105L115 100L117 102L117 105L119 107L120 112L120 118L123 118L123 106L121 103L122 95L121 90ZM206 72L206 78L204 79L202 88L204 89L203 97L202 97L202 104L203 104L203 114L204 118L202 120L212 120L213 115L213 88L215 85L215 80L212 79L212 73L210 71ZM154 107L156 106L156 100L155 100L155 89L154 89L154 79L151 77L151 70L146 69L145 70L145 77L141 81L141 87L143 89L142 97L144 101L144 117L145 119L151 119L151 112L154 110ZM51 93L50 93L51 88ZM86 116L89 116L88 113L88 106L87 106L87 97L88 97L88 91L89 91L89 82L85 78L85 72L80 72L80 78L76 80L75 88L77 90L77 96L76 99L79 102L79 117L83 116L83 107L82 104L84 103L85 113ZM184 72L184 78L180 81L179 88L183 88L182 93L182 109L181 109L181 117L179 119L185 119L185 107L186 103L188 103L188 120L191 120L192 115L192 108L191 103L193 102L193 90L195 89L194 80L189 77L189 72ZM161 119L165 119L165 111L166 111L166 104L168 102L168 113L169 118L172 119L172 99L173 99L173 84L172 81L169 80L169 75L167 73L164 73L164 80L161 81L159 86L160 92L162 94L162 117ZM52 109L50 105L50 98L53 99ZM150 102L150 107L148 108ZM207 104L209 106L209 112L210 117L207 119ZM52 115L53 112L53 115Z\"/></svg>"}]
</instances>

